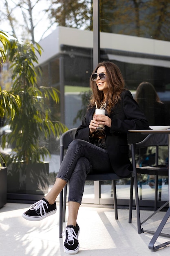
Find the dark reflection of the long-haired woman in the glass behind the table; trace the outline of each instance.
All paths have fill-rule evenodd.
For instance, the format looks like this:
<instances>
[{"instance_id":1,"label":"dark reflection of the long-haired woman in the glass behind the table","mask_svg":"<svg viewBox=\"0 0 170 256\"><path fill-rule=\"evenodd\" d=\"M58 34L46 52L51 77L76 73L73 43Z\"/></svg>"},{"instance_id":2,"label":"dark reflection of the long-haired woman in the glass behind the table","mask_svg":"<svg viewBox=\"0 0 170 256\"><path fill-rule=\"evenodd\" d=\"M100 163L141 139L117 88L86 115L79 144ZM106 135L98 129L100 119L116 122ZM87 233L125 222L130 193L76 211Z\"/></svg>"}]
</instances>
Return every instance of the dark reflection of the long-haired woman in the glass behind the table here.
<instances>
[{"instance_id":1,"label":"dark reflection of the long-haired woman in the glass behind the table","mask_svg":"<svg viewBox=\"0 0 170 256\"><path fill-rule=\"evenodd\" d=\"M154 88L154 86L146 81L139 84L136 90L135 100L137 101L139 108L144 112L147 117L150 126L164 126L166 125L166 108L165 104L159 99L159 96ZM143 138L138 136L138 138ZM143 165L154 165L155 164L155 147L142 148L140 149L140 162L139 166ZM159 154L160 155L160 154ZM161 158L159 162L165 163L167 158L167 150L161 150ZM147 180L145 180L146 175L141 175L142 182L148 182L148 185L155 189L155 176L148 175Z\"/></svg>"}]
</instances>

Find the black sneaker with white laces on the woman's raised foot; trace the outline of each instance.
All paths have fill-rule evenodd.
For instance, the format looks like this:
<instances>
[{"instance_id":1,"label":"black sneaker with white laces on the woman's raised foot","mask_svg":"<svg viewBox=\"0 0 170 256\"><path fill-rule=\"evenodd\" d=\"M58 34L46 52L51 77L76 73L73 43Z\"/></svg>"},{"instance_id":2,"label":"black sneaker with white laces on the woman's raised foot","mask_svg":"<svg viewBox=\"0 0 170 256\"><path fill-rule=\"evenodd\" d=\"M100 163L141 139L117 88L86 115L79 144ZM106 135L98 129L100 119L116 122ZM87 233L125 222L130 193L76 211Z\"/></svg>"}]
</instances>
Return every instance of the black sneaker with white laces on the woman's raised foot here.
<instances>
[{"instance_id":1,"label":"black sneaker with white laces on the woman's raised foot","mask_svg":"<svg viewBox=\"0 0 170 256\"><path fill-rule=\"evenodd\" d=\"M56 203L49 204L49 202L42 198L42 200L32 204L30 209L22 214L26 220L38 221L42 220L57 211Z\"/></svg>"}]
</instances>

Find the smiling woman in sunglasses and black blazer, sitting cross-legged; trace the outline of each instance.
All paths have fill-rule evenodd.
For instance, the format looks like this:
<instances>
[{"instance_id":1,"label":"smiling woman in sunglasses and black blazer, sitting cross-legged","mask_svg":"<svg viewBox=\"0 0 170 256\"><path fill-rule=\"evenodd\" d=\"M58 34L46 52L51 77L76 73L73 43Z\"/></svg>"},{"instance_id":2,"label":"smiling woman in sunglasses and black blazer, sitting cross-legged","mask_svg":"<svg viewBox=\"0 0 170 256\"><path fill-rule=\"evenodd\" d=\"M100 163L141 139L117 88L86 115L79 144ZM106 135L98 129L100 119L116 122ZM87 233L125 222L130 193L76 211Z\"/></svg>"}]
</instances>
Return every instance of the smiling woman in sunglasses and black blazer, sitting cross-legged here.
<instances>
[{"instance_id":1,"label":"smiling woman in sunglasses and black blazer, sitting cross-legged","mask_svg":"<svg viewBox=\"0 0 170 256\"><path fill-rule=\"evenodd\" d=\"M139 109L119 68L111 62L97 65L90 79L93 96L77 128L75 140L68 146L55 184L45 198L23 213L27 220L41 220L55 213L55 199L69 181L68 223L64 251L79 251L77 213L82 201L86 175L90 172L115 172L128 177L132 165L128 157L127 133L130 129L147 129L148 121ZM105 115L95 115L95 104L105 109ZM104 130L97 130L103 124Z\"/></svg>"}]
</instances>

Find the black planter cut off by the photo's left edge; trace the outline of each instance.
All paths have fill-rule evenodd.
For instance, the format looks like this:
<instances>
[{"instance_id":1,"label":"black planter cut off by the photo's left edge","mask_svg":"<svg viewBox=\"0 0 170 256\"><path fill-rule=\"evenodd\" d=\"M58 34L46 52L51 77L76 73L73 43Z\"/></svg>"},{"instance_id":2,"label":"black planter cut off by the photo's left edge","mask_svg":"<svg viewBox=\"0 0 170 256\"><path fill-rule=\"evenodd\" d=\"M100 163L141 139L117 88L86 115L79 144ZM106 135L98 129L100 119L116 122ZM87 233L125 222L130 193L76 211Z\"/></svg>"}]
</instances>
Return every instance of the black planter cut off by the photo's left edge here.
<instances>
[{"instance_id":1,"label":"black planter cut off by the photo's left edge","mask_svg":"<svg viewBox=\"0 0 170 256\"><path fill-rule=\"evenodd\" d=\"M7 167L0 167L0 208L7 203Z\"/></svg>"}]
</instances>

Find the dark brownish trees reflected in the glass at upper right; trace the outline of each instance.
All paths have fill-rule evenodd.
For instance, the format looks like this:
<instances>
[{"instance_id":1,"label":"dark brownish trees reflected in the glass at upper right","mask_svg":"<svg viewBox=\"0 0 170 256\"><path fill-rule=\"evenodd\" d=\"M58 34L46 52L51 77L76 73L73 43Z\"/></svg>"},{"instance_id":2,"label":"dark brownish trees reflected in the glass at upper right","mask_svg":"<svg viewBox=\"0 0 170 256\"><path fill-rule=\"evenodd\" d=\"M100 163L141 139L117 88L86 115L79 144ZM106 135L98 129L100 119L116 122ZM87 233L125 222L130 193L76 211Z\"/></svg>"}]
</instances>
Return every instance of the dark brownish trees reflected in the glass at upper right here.
<instances>
[{"instance_id":1,"label":"dark brownish trees reflected in the glass at upper right","mask_svg":"<svg viewBox=\"0 0 170 256\"><path fill-rule=\"evenodd\" d=\"M101 31L169 41L169 0L100 0L99 2Z\"/></svg>"}]
</instances>

